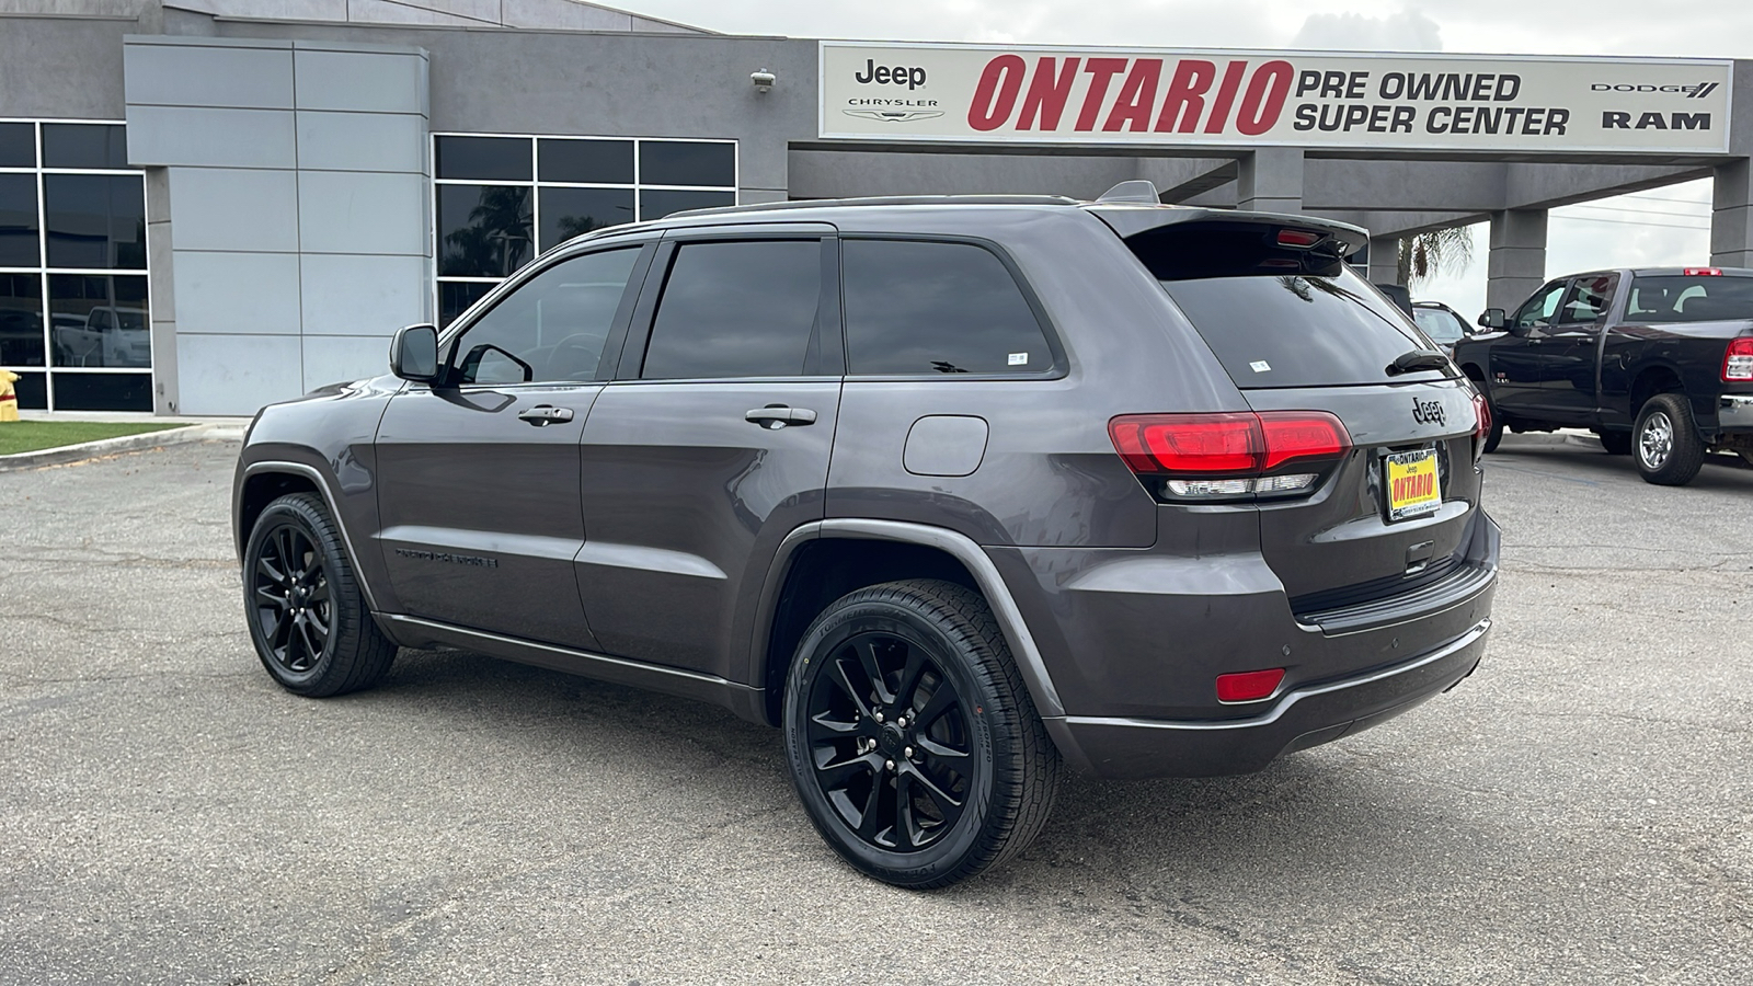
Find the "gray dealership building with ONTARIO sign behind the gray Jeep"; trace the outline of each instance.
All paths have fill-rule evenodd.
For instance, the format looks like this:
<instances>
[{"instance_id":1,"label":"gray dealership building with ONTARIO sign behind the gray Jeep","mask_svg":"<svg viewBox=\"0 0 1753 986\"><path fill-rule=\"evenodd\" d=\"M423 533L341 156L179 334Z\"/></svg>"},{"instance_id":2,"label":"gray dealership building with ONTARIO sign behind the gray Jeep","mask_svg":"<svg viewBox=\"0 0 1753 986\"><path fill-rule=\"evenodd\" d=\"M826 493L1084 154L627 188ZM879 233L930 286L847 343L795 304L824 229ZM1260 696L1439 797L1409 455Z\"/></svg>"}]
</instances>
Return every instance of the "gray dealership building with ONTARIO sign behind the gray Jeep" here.
<instances>
[{"instance_id":1,"label":"gray dealership building with ONTARIO sign behind the gray Jeep","mask_svg":"<svg viewBox=\"0 0 1753 986\"><path fill-rule=\"evenodd\" d=\"M1150 44L1152 39L1141 39ZM1167 39L1164 39L1167 40ZM682 209L1052 193L1490 221L1714 177L1753 267L1753 61L722 35L575 0L0 0L0 368L51 411L251 414L386 368L540 251ZM1613 235L1613 233L1604 233Z\"/></svg>"}]
</instances>

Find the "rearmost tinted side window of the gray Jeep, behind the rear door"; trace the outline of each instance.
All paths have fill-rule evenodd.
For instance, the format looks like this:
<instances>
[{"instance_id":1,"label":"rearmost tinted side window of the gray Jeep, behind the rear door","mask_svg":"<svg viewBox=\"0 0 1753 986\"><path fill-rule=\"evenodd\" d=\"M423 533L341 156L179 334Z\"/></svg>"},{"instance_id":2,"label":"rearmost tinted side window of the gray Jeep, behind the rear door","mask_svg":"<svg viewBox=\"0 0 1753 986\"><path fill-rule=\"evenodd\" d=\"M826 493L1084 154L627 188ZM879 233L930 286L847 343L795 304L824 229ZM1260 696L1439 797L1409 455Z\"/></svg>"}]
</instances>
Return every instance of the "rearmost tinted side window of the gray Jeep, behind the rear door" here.
<instances>
[{"instance_id":1,"label":"rearmost tinted side window of the gray Jeep, behind the rear door","mask_svg":"<svg viewBox=\"0 0 1753 986\"><path fill-rule=\"evenodd\" d=\"M1054 365L1017 281L975 244L843 240L852 374L1029 374Z\"/></svg>"}]
</instances>

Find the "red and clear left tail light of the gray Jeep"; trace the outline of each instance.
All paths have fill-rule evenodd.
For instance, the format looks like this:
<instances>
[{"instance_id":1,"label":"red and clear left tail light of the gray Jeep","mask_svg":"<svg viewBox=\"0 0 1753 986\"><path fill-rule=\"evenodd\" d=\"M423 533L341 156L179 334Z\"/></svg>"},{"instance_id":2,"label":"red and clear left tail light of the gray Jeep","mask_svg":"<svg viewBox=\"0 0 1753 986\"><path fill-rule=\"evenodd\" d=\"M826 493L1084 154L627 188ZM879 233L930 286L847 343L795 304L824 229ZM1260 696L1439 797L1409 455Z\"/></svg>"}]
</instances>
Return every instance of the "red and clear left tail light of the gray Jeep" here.
<instances>
[{"instance_id":1,"label":"red and clear left tail light of the gray Jeep","mask_svg":"<svg viewBox=\"0 0 1753 986\"><path fill-rule=\"evenodd\" d=\"M1352 435L1324 411L1122 414L1115 451L1167 500L1248 500L1313 489Z\"/></svg>"}]
</instances>

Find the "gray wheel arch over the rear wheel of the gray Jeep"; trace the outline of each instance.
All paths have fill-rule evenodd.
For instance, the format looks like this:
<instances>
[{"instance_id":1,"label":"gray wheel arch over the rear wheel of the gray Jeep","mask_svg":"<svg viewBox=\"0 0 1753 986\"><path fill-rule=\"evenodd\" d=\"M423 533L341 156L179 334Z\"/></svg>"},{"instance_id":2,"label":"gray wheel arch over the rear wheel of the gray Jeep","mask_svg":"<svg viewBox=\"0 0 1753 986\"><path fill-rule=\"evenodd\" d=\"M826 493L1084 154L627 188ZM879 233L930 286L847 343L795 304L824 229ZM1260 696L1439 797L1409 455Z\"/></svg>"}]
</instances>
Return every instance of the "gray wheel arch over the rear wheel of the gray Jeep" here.
<instances>
[{"instance_id":1,"label":"gray wheel arch over the rear wheel of the gray Jeep","mask_svg":"<svg viewBox=\"0 0 1753 986\"><path fill-rule=\"evenodd\" d=\"M1036 711L1064 714L1022 611L973 539L929 525L836 518L787 535L763 586L749 679L764 695L761 718L773 726L780 723L785 672L803 632L824 607L866 586L920 577L980 593L1010 644Z\"/></svg>"}]
</instances>

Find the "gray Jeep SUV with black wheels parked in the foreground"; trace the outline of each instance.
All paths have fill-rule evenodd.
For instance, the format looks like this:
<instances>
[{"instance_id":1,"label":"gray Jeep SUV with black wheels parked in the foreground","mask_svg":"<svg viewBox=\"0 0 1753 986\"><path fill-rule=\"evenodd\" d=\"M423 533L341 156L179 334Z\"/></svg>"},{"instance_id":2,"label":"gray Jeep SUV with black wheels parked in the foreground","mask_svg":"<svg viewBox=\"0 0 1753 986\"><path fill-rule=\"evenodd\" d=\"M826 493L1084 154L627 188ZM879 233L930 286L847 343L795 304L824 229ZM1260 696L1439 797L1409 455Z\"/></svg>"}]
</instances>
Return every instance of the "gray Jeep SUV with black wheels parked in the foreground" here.
<instances>
[{"instance_id":1,"label":"gray Jeep SUV with black wheels parked in the foreground","mask_svg":"<svg viewBox=\"0 0 1753 986\"><path fill-rule=\"evenodd\" d=\"M1480 661L1488 421L1364 235L975 196L575 239L256 418L251 635L298 695L447 646L724 705L848 863L954 882L1062 761L1259 770Z\"/></svg>"}]
</instances>

